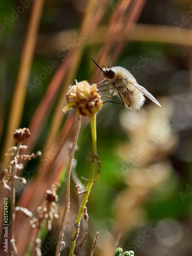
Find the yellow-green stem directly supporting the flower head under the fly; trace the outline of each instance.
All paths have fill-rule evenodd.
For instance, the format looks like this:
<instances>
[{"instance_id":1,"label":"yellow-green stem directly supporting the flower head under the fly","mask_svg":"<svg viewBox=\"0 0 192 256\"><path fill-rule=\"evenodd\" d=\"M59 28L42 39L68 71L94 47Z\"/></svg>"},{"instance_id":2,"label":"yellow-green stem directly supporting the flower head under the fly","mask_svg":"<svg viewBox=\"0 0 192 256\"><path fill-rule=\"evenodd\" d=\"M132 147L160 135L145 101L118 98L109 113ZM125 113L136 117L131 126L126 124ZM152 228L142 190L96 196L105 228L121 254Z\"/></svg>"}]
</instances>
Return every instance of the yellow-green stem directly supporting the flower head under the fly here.
<instances>
[{"instance_id":1,"label":"yellow-green stem directly supporting the flower head under the fly","mask_svg":"<svg viewBox=\"0 0 192 256\"><path fill-rule=\"evenodd\" d=\"M92 133L92 147L93 147L93 153L97 153L97 145L96 145L96 141L97 141L97 137L96 137L96 114L90 117L90 121L91 121L91 133ZM91 166L91 173L90 173L90 177L89 177L89 182L86 188L87 193L84 194L81 206L79 208L79 212L78 212L78 216L77 216L77 220L75 223L75 229L73 232L73 238L75 237L76 233L77 233L77 228L80 225L80 220L82 217L82 213L84 210L84 206L86 206L89 194L90 194L90 190L91 187L94 183L94 174L95 174L95 166L96 166L96 158L93 158L92 161L92 166ZM71 247L70 247L70 252L69 252L69 256L73 256L74 253L74 249L75 249L75 243L76 243L76 239L74 241L71 242Z\"/></svg>"}]
</instances>

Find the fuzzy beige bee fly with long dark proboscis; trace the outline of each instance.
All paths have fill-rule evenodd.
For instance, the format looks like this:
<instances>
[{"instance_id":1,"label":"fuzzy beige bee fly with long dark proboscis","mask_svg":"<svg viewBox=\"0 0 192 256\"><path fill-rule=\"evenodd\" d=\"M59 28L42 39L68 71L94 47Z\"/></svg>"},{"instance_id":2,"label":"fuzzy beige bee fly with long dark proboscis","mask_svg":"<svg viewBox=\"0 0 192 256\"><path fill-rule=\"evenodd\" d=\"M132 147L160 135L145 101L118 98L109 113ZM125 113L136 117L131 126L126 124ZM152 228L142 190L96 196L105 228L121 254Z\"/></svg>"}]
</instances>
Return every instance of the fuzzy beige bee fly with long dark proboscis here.
<instances>
[{"instance_id":1,"label":"fuzzy beige bee fly with long dark proboscis","mask_svg":"<svg viewBox=\"0 0 192 256\"><path fill-rule=\"evenodd\" d=\"M94 60L93 62L97 65ZM102 71L102 74L105 77L101 82L106 81L106 83L98 86L98 88L106 85L110 86L110 95L102 97L112 97L113 95L117 95L122 101L122 104L125 105L125 108L131 111L139 110L142 107L145 101L144 95L150 98L157 105L161 106L151 93L137 83L135 77L128 70L124 69L123 67L110 68L103 66L103 69L101 69L98 65L97 67ZM107 90L102 90L100 92L103 91Z\"/></svg>"}]
</instances>

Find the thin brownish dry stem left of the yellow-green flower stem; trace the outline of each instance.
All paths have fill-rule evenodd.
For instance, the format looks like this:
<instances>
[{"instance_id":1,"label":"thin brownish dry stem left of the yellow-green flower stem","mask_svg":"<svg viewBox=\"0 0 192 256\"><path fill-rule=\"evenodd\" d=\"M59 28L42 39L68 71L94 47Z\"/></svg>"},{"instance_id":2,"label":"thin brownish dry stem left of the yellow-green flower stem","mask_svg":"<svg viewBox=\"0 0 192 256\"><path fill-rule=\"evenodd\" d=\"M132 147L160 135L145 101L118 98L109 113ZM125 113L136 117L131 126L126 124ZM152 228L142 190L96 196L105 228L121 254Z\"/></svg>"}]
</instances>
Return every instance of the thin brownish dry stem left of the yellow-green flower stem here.
<instances>
[{"instance_id":1,"label":"thin brownish dry stem left of the yellow-green flower stem","mask_svg":"<svg viewBox=\"0 0 192 256\"><path fill-rule=\"evenodd\" d=\"M78 139L78 135L79 135L79 131L80 131L80 121L81 121L81 115L77 115L76 133L75 133L75 138L74 138L73 145L72 145L71 152L70 152L70 156L69 156L69 163L68 163L68 169L67 169L66 206L65 206L65 209L63 211L62 222L61 222L61 227L60 227L59 238L58 238L58 242L57 242L57 248L56 248L55 256L60 255L61 242L63 240L67 215L68 215L69 208L70 208L71 167L72 167L73 156L74 156L74 153L75 153L75 146L77 144L77 139Z\"/></svg>"}]
</instances>

